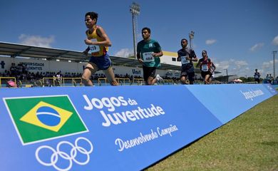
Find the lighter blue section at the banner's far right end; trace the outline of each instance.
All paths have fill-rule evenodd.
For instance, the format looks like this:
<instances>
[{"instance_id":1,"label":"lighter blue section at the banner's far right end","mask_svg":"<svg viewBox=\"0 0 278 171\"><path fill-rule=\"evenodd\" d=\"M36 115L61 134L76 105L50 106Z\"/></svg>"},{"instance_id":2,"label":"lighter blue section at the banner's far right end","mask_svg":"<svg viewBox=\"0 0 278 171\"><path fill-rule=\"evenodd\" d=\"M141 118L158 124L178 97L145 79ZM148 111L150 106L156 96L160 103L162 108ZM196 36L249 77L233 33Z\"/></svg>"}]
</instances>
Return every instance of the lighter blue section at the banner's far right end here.
<instances>
[{"instance_id":1,"label":"lighter blue section at the banner's far right end","mask_svg":"<svg viewBox=\"0 0 278 171\"><path fill-rule=\"evenodd\" d=\"M223 124L277 94L270 84L200 85L187 88Z\"/></svg>"}]
</instances>

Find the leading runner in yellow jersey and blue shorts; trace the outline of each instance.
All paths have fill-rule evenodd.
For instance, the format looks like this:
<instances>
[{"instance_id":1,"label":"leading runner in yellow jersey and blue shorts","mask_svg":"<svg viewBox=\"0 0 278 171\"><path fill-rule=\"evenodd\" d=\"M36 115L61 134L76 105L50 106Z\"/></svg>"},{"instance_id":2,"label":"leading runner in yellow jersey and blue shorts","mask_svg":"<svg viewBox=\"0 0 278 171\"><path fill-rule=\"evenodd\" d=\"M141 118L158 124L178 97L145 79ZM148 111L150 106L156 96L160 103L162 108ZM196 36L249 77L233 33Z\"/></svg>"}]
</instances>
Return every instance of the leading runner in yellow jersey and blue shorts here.
<instances>
[{"instance_id":1,"label":"leading runner in yellow jersey and blue shorts","mask_svg":"<svg viewBox=\"0 0 278 171\"><path fill-rule=\"evenodd\" d=\"M93 82L90 79L92 74L102 70L110 85L118 86L115 74L113 73L112 62L107 53L111 42L103 28L96 25L97 21L98 14L95 12L86 13L85 24L88 30L86 31L87 38L85 43L88 45L88 48L84 53L88 54L90 52L91 58L83 71L82 81L85 86L93 86Z\"/></svg>"}]
</instances>

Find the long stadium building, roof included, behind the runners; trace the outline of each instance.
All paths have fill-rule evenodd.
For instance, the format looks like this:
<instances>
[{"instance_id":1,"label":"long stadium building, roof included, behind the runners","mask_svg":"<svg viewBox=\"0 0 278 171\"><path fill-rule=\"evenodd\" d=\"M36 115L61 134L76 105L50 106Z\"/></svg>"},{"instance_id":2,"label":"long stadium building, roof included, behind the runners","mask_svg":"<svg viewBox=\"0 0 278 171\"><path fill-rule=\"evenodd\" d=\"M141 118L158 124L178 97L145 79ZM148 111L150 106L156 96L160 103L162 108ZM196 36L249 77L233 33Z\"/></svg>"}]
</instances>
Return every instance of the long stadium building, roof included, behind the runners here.
<instances>
[{"instance_id":1,"label":"long stadium building, roof included, behind the runners","mask_svg":"<svg viewBox=\"0 0 278 171\"><path fill-rule=\"evenodd\" d=\"M163 54L160 57L161 67L158 68L157 74L165 78L165 83L178 83L181 63L177 61L177 53L163 51ZM116 78L125 78L124 82L130 82L127 80L130 76L138 81L139 79L143 80L142 65L135 58L120 56L110 56L110 58ZM0 73L2 76L11 75L10 69L14 65L24 68L28 73L40 74L43 77L56 77L56 74L60 72L64 78L66 76L78 79L87 62L88 56L79 51L0 42ZM195 73L196 78L200 78L199 69L195 69ZM98 71L95 76L99 79L103 78L104 74L102 71Z\"/></svg>"}]
</instances>

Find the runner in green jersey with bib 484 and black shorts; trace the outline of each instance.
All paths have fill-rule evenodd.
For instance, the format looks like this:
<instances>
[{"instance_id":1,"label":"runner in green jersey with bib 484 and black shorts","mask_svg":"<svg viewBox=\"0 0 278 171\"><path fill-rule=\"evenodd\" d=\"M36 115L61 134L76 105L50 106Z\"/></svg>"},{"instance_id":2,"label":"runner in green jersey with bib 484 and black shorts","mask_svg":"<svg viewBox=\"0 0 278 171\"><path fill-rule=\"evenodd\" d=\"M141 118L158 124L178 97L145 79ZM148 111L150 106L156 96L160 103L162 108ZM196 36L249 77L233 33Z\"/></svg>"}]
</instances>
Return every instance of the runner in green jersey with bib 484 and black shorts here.
<instances>
[{"instance_id":1,"label":"runner in green jersey with bib 484 and black shorts","mask_svg":"<svg viewBox=\"0 0 278 171\"><path fill-rule=\"evenodd\" d=\"M142 29L143 40L137 44L137 59L143 64L143 76L146 85L154 85L163 81L159 75L155 76L156 68L160 66L160 56L163 56L158 41L150 39L150 28Z\"/></svg>"}]
</instances>

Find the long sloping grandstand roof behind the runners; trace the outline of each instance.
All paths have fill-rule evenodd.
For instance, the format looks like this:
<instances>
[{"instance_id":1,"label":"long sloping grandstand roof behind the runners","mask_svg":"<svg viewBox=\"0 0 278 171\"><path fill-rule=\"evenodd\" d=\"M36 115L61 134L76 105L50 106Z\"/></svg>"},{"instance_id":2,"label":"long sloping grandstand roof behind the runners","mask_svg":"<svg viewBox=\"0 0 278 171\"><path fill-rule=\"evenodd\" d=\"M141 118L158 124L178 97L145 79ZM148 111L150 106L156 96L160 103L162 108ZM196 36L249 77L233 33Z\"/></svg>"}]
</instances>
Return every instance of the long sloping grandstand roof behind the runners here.
<instances>
[{"instance_id":1,"label":"long sloping grandstand roof behind the runners","mask_svg":"<svg viewBox=\"0 0 278 171\"><path fill-rule=\"evenodd\" d=\"M75 62L88 62L88 56L85 56L80 51L68 51L57 48L43 48L38 46L29 46L17 43L0 42L0 55L16 57L29 57L29 58L46 58L46 60L61 61L75 61ZM123 58L118 56L110 56L111 61L115 65L121 66L137 66L142 67L142 64L134 58ZM160 69L180 71L180 66L161 63Z\"/></svg>"}]
</instances>

